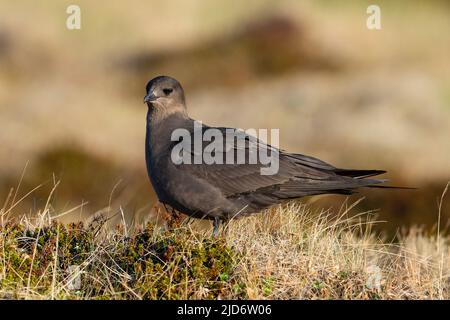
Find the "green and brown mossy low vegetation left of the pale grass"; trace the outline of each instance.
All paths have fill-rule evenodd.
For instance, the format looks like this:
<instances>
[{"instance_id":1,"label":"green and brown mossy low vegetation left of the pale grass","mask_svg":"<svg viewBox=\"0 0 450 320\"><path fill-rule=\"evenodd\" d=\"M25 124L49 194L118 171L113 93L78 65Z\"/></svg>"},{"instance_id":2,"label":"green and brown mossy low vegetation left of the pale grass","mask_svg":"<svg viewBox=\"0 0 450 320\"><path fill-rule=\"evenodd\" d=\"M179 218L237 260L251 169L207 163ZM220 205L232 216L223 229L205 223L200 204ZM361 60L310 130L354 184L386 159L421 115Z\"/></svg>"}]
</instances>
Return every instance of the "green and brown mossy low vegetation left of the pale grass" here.
<instances>
[{"instance_id":1,"label":"green and brown mossy low vegetation left of the pale grass","mask_svg":"<svg viewBox=\"0 0 450 320\"><path fill-rule=\"evenodd\" d=\"M4 297L217 299L244 292L234 277L233 248L187 227L149 224L128 237L120 227L8 223L0 235Z\"/></svg>"}]
</instances>

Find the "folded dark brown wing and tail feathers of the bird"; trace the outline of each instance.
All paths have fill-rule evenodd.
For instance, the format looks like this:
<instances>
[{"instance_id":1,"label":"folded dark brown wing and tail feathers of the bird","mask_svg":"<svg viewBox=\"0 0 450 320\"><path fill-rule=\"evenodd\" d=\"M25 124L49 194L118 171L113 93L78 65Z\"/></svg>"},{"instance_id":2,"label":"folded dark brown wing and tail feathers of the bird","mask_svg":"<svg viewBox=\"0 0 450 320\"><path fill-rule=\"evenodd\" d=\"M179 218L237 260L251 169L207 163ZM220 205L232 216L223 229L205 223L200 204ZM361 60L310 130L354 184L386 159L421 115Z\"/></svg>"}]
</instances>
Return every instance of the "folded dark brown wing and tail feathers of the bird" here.
<instances>
[{"instance_id":1,"label":"folded dark brown wing and tail feathers of the bird","mask_svg":"<svg viewBox=\"0 0 450 320\"><path fill-rule=\"evenodd\" d=\"M202 130L208 128L208 126L203 126ZM225 134L229 128L214 129L218 129L222 134ZM382 171L338 169L314 157L284 152L243 132L239 133L238 138L243 138L245 143L234 141L230 144L229 141L224 141L222 148L214 150L214 156L223 159L223 162L225 162L227 158L236 159L238 151L244 151L245 157L248 159L251 152L255 152L258 148L264 148L266 151L278 153L278 173L262 175L261 169L265 166L261 163L180 164L177 165L177 168L196 178L204 179L219 188L226 197L246 196L248 199L252 198L255 205L259 203L261 206L276 202L277 199L296 198L303 195L333 192L349 193L349 190L353 188L384 182L384 180L361 179L383 173ZM205 150L205 147L210 143L204 141L202 150ZM191 150L194 150L193 145L191 145ZM191 155L193 155L192 151ZM251 193L255 194L250 196Z\"/></svg>"}]
</instances>

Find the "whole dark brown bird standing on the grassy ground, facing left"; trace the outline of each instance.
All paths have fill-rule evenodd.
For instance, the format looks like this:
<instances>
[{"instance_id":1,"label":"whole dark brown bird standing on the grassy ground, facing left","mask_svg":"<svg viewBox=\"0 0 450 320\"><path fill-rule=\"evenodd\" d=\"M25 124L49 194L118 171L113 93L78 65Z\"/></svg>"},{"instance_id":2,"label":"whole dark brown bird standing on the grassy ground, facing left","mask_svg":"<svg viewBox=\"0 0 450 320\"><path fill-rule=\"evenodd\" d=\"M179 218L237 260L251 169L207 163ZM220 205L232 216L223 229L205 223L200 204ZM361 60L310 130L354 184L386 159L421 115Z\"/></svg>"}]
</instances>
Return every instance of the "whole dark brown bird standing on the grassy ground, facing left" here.
<instances>
[{"instance_id":1,"label":"whole dark brown bird standing on the grassy ground, facing left","mask_svg":"<svg viewBox=\"0 0 450 320\"><path fill-rule=\"evenodd\" d=\"M279 171L261 175L261 164L175 164L171 151L174 129L194 132L181 85L170 77L157 77L146 87L148 105L145 157L151 183L165 205L196 218L218 223L233 217L259 212L281 202L318 194L351 194L359 187L373 187L386 180L369 179L381 170L339 169L319 159L302 154L279 152ZM204 132L208 126L203 126ZM217 128L224 132L226 128ZM208 142L209 143L209 142ZM208 143L204 143L205 147ZM265 146L246 136L245 153ZM237 145L224 144L222 155L234 152Z\"/></svg>"}]
</instances>

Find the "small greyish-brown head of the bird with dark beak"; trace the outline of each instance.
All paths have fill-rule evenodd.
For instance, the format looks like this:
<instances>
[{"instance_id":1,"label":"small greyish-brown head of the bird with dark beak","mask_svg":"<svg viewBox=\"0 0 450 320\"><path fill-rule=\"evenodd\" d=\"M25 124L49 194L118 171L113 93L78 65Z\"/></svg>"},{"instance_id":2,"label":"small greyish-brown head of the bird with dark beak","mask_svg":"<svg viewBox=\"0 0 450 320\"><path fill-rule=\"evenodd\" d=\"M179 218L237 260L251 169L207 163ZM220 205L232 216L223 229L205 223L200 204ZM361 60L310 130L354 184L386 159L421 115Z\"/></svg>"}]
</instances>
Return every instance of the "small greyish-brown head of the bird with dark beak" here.
<instances>
[{"instance_id":1,"label":"small greyish-brown head of the bird with dark beak","mask_svg":"<svg viewBox=\"0 0 450 320\"><path fill-rule=\"evenodd\" d=\"M144 103L159 114L186 113L184 91L174 78L159 76L147 83Z\"/></svg>"}]
</instances>

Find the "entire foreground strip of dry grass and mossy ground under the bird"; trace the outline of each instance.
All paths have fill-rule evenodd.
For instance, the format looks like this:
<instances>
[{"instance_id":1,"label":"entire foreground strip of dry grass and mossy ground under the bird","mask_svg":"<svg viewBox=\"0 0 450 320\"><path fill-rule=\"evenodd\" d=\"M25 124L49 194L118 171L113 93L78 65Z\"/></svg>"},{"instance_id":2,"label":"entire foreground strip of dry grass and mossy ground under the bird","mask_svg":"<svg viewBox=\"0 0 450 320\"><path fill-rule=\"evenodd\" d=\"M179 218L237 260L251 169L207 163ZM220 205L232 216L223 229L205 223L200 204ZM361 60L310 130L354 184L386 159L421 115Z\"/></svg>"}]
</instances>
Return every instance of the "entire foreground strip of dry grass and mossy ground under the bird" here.
<instances>
[{"instance_id":1,"label":"entire foreground strip of dry grass and mossy ground under the bird","mask_svg":"<svg viewBox=\"0 0 450 320\"><path fill-rule=\"evenodd\" d=\"M443 200L443 198L442 198ZM49 201L50 203L50 201ZM56 223L50 205L0 226L0 296L20 299L448 299L449 239L374 235L370 212L291 203L231 221L217 239L170 228ZM9 208L14 206L14 202ZM76 281L81 281L75 287Z\"/></svg>"}]
</instances>

